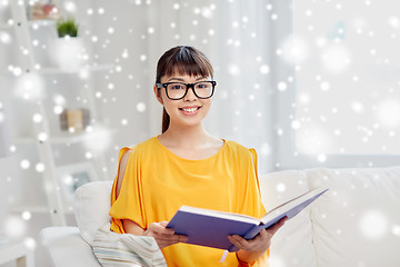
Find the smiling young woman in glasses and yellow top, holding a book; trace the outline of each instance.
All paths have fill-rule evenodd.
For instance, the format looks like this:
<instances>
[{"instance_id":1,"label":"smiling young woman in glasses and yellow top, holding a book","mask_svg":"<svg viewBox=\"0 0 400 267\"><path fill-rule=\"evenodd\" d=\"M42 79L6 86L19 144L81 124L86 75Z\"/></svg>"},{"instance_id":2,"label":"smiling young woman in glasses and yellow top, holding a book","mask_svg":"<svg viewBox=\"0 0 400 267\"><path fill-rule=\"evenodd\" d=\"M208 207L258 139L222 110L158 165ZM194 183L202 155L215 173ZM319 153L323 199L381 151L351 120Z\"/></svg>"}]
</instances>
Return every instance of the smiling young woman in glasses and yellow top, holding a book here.
<instances>
[{"instance_id":1,"label":"smiling young woman in glasses and yellow top, holding a book","mask_svg":"<svg viewBox=\"0 0 400 267\"><path fill-rule=\"evenodd\" d=\"M206 56L174 47L157 66L154 95L163 106L162 134L122 148L112 187L111 230L151 236L168 266L268 266L268 248L281 220L254 239L230 236L240 250L219 263L222 250L187 245L166 228L182 206L262 217L253 149L209 135L202 125L217 82Z\"/></svg>"}]
</instances>

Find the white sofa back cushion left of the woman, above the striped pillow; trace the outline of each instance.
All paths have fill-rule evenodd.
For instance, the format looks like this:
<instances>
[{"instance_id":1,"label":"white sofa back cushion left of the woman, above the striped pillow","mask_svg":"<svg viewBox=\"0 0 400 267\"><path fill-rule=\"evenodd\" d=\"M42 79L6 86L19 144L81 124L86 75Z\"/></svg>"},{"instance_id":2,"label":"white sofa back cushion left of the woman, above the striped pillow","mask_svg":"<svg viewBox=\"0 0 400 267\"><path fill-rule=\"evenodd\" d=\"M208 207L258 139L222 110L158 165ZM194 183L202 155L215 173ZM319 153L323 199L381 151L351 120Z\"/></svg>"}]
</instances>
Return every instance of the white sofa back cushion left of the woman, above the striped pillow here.
<instances>
[{"instance_id":1,"label":"white sofa back cushion left of the woman, above the striped pillow","mask_svg":"<svg viewBox=\"0 0 400 267\"><path fill-rule=\"evenodd\" d=\"M92 246L98 229L111 220L109 216L112 181L92 181L74 194L73 211L82 238Z\"/></svg>"}]
</instances>

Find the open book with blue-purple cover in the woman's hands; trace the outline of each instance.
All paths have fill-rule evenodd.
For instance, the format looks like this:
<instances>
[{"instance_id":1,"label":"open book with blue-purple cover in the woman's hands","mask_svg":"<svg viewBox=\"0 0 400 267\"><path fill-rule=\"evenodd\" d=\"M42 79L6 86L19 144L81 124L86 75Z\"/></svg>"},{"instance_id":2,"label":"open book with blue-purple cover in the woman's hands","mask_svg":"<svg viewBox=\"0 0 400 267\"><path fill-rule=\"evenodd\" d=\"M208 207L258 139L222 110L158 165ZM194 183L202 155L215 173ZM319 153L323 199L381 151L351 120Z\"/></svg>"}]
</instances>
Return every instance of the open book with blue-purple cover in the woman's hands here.
<instances>
[{"instance_id":1,"label":"open book with blue-purple cover in the woman's hands","mask_svg":"<svg viewBox=\"0 0 400 267\"><path fill-rule=\"evenodd\" d=\"M252 239L262 229L269 228L283 217L293 218L327 190L324 188L310 190L276 207L261 219L240 214L182 206L169 221L167 228L172 228L176 234L188 236L187 244L221 248L232 253L238 248L229 241L229 235Z\"/></svg>"}]
</instances>

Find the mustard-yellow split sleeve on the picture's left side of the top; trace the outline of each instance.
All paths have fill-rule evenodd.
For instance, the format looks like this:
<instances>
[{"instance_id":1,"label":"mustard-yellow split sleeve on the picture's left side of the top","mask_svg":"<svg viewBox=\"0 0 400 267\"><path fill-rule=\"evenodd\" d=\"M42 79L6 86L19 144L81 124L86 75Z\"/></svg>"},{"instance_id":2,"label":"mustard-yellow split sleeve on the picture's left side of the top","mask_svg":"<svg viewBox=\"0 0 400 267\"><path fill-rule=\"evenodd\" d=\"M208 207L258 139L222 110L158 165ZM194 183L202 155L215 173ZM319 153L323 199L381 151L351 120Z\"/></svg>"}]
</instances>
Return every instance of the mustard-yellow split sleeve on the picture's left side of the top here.
<instances>
[{"instance_id":1,"label":"mustard-yellow split sleeve on the picture's left side of the top","mask_svg":"<svg viewBox=\"0 0 400 267\"><path fill-rule=\"evenodd\" d=\"M123 155L131 150L129 155L126 171L122 179L121 189L117 197L117 182L121 159ZM122 219L130 219L137 222L143 229L147 228L146 214L143 207L141 182L140 158L136 148L122 148L118 157L118 171L111 189L111 230L124 234Z\"/></svg>"}]
</instances>

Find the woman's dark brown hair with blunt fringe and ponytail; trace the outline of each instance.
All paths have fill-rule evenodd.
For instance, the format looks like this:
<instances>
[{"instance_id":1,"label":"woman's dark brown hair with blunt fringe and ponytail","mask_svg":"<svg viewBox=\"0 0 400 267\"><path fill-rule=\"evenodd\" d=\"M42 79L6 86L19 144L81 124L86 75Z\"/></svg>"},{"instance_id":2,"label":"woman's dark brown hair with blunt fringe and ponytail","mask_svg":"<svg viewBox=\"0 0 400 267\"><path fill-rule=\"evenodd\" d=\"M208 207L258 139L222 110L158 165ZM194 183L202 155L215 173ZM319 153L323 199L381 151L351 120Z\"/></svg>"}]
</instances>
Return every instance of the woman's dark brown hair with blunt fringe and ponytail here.
<instances>
[{"instance_id":1,"label":"woman's dark brown hair with blunt fringe and ponytail","mask_svg":"<svg viewBox=\"0 0 400 267\"><path fill-rule=\"evenodd\" d=\"M178 46L164 52L157 63L156 83L161 77L179 75L213 77L213 69L208 58L193 47ZM166 109L162 111L162 132L170 123Z\"/></svg>"}]
</instances>

